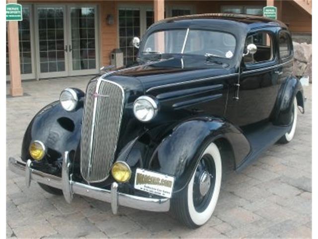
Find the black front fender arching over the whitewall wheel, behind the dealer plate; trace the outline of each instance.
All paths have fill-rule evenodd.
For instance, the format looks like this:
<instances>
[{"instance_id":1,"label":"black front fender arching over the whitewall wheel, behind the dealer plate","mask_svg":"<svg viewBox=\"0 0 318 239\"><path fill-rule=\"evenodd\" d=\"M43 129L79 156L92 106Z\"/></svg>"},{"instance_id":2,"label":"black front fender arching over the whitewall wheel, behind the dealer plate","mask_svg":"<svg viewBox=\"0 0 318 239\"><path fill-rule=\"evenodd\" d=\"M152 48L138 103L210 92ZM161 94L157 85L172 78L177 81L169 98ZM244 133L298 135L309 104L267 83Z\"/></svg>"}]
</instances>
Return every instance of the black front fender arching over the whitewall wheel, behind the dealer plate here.
<instances>
[{"instance_id":1,"label":"black front fender arching over the whitewall wheel, behind the dealer plate","mask_svg":"<svg viewBox=\"0 0 318 239\"><path fill-rule=\"evenodd\" d=\"M194 169L200 158L200 149L213 140L225 138L232 146L235 164L245 158L249 153L250 146L242 132L225 121L214 117L198 117L188 119L176 125L168 132L148 158L142 159L143 149L135 143L125 161L133 167L136 165L146 169L172 175L175 177L174 192L182 190L190 181ZM147 150L146 150L147 151ZM123 158L118 158L122 160ZM140 163L138 163L140 162Z\"/></svg>"}]
</instances>

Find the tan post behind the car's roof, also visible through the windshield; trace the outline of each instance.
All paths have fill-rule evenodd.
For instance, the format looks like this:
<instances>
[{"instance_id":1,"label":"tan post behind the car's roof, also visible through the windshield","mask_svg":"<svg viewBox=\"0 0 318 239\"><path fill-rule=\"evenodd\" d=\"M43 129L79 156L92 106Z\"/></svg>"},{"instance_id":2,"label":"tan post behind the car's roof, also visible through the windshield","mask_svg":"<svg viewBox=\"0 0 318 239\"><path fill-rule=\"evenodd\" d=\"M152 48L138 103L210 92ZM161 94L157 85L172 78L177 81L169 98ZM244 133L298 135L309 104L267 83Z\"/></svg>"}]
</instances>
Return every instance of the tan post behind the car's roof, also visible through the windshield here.
<instances>
[{"instance_id":1,"label":"tan post behind the car's roof, also visible through the windshield","mask_svg":"<svg viewBox=\"0 0 318 239\"><path fill-rule=\"evenodd\" d=\"M154 0L154 20L164 19L164 0ZM164 52L164 32L155 33L155 51Z\"/></svg>"}]
</instances>

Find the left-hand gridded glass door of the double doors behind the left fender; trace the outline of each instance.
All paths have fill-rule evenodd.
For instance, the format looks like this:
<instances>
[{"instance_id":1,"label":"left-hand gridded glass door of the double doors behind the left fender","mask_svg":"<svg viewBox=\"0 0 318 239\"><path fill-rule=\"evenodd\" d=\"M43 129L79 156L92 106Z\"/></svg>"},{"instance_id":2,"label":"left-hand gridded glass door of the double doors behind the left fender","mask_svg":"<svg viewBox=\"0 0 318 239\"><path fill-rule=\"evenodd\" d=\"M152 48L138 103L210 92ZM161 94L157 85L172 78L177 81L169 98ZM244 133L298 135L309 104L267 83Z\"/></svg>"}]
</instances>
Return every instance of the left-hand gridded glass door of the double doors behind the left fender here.
<instances>
[{"instance_id":1,"label":"left-hand gridded glass door of the double doors behind the left fender","mask_svg":"<svg viewBox=\"0 0 318 239\"><path fill-rule=\"evenodd\" d=\"M68 75L65 7L36 6L39 78Z\"/></svg>"}]
</instances>

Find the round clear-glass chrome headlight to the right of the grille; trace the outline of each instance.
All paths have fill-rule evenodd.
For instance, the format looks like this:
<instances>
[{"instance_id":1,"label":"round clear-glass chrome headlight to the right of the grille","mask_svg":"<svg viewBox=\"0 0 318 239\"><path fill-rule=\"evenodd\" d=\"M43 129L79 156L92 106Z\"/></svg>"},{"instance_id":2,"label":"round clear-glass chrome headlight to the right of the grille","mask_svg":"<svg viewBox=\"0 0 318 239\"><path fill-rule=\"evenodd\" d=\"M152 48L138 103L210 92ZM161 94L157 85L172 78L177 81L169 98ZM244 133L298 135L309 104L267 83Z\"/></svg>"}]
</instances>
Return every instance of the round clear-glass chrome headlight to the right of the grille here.
<instances>
[{"instance_id":1,"label":"round clear-glass chrome headlight to the right of the grille","mask_svg":"<svg viewBox=\"0 0 318 239\"><path fill-rule=\"evenodd\" d=\"M156 117L158 108L155 99L149 96L141 96L134 103L134 115L138 120L148 122Z\"/></svg>"}]
</instances>

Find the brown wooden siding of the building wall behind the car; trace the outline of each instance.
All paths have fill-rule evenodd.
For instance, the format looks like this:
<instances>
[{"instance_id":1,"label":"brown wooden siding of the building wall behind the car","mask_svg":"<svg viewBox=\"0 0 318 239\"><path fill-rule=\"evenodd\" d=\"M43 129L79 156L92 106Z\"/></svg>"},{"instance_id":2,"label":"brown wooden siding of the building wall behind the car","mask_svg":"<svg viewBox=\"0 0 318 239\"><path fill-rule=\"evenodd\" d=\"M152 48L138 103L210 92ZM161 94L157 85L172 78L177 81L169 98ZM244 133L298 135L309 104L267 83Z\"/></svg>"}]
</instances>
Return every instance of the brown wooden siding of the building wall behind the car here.
<instances>
[{"instance_id":1,"label":"brown wooden siding of the building wall behind the car","mask_svg":"<svg viewBox=\"0 0 318 239\"><path fill-rule=\"evenodd\" d=\"M100 12L100 64L106 66L110 64L110 54L114 48L118 48L118 5L122 4L153 4L153 0L19 0L20 3L83 3L98 4ZM166 6L192 6L196 13L220 12L222 5L260 5L265 6L266 0L165 0ZM311 33L312 16L302 9L297 3L284 0L279 3L275 0L275 5L282 6L282 21L289 25L294 33ZM107 14L114 16L114 24L108 25L106 22Z\"/></svg>"}]
</instances>

